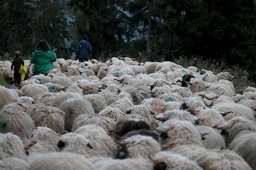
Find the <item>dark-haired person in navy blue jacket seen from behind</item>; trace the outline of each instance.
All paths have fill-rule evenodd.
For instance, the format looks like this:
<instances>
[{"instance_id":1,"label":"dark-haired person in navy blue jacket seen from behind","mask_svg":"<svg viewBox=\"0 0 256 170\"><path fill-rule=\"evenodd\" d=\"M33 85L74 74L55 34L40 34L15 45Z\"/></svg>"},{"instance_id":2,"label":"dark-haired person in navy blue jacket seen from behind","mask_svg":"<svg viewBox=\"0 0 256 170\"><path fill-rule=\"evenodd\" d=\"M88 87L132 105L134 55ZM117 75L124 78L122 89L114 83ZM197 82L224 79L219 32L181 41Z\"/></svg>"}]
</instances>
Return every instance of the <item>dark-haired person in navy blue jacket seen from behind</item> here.
<instances>
[{"instance_id":1,"label":"dark-haired person in navy blue jacket seen from behind","mask_svg":"<svg viewBox=\"0 0 256 170\"><path fill-rule=\"evenodd\" d=\"M79 59L79 62L88 61L90 54L93 50L91 49L91 44L87 42L88 36L83 35L83 40L80 41L76 46L76 58Z\"/></svg>"}]
</instances>

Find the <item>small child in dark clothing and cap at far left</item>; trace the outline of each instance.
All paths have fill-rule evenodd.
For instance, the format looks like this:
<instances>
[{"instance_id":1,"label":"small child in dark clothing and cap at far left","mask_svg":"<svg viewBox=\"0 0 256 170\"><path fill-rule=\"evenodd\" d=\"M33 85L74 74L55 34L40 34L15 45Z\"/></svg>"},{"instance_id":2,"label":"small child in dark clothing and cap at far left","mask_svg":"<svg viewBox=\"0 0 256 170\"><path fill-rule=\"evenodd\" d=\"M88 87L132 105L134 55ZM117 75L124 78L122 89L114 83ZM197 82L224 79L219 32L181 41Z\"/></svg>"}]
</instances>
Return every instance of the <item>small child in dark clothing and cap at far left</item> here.
<instances>
[{"instance_id":1,"label":"small child in dark clothing and cap at far left","mask_svg":"<svg viewBox=\"0 0 256 170\"><path fill-rule=\"evenodd\" d=\"M13 59L13 62L11 64L11 70L13 70L13 66L14 66L14 82L16 84L20 84L20 73L19 73L19 70L20 70L20 66L21 64L24 65L24 61L22 60L22 58L20 58L20 52L19 51L16 51L15 52L15 58Z\"/></svg>"}]
</instances>

